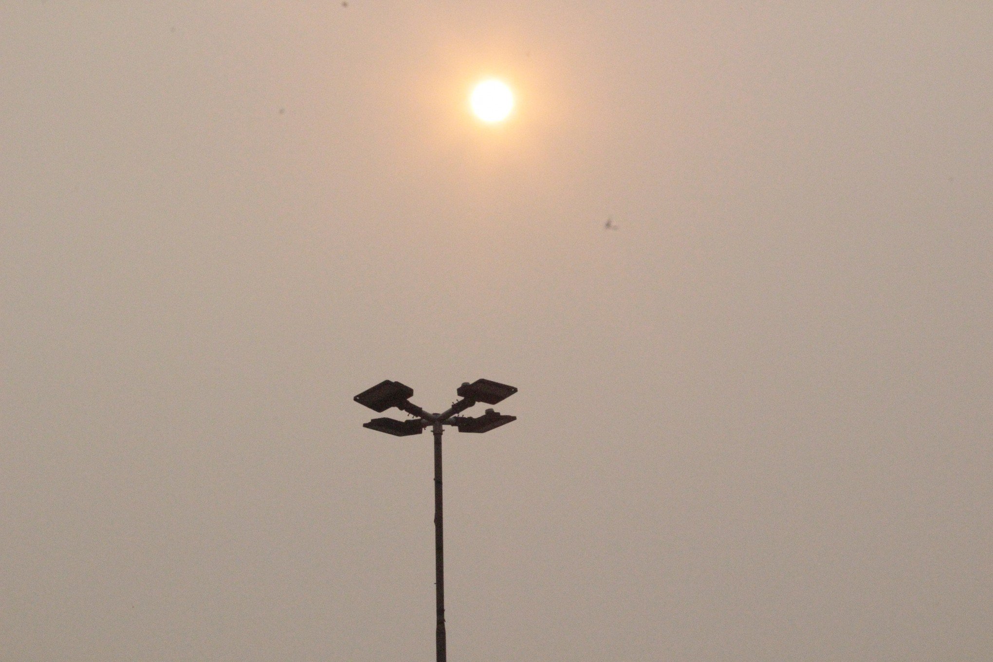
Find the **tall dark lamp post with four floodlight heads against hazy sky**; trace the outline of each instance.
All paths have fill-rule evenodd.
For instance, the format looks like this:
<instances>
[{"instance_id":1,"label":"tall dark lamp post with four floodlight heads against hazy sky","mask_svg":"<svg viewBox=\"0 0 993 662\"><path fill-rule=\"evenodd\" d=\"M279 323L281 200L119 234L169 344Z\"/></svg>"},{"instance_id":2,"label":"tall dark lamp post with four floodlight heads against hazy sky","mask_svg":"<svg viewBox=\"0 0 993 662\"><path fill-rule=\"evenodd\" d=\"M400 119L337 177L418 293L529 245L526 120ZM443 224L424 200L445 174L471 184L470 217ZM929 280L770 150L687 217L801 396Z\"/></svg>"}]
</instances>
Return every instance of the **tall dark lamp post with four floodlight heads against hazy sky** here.
<instances>
[{"instance_id":1,"label":"tall dark lamp post with four floodlight heads against hazy sky","mask_svg":"<svg viewBox=\"0 0 993 662\"><path fill-rule=\"evenodd\" d=\"M419 435L428 426L435 438L435 597L438 609L438 627L435 630L437 644L437 662L446 662L445 657L445 567L444 540L442 537L442 507L441 507L441 435L442 426L452 425L459 432L484 433L494 428L516 421L516 416L505 416L488 409L483 416L475 418L457 416L477 402L496 405L497 402L517 392L513 386L499 384L489 379L477 379L470 384L464 383L456 393L462 398L442 414L429 414L410 402L414 389L398 381L385 380L372 388L362 391L355 396L355 402L365 405L374 412L382 413L390 407L396 407L414 417L413 420L397 421L391 418L372 419L362 425L363 428L384 432L396 437Z\"/></svg>"}]
</instances>

